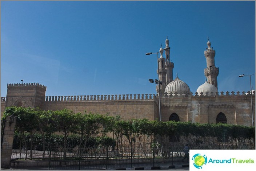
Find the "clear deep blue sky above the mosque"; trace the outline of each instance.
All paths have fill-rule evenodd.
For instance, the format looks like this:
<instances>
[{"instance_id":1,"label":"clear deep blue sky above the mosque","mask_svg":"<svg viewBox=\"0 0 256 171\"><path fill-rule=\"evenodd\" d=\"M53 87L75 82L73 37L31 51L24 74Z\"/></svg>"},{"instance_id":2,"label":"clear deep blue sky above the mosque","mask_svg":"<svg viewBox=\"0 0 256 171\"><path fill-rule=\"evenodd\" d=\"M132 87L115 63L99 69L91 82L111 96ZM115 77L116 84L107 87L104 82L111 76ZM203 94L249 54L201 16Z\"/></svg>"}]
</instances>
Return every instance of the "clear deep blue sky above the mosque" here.
<instances>
[{"instance_id":1,"label":"clear deep blue sky above the mosque","mask_svg":"<svg viewBox=\"0 0 256 171\"><path fill-rule=\"evenodd\" d=\"M255 73L255 1L1 1L1 97L38 82L46 96L155 93L168 36L176 73L205 82L207 37L219 91L248 91ZM252 76L255 89L255 75Z\"/></svg>"}]
</instances>

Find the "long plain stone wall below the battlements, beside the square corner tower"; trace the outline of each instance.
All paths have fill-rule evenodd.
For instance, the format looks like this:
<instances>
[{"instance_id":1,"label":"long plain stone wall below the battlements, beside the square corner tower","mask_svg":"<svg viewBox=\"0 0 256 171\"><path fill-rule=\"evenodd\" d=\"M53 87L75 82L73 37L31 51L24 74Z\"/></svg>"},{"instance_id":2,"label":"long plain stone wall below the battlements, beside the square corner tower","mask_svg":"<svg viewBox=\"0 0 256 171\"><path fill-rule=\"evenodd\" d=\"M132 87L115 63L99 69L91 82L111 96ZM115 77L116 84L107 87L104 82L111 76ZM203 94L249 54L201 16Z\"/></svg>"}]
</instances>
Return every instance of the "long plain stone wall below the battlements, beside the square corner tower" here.
<instances>
[{"instance_id":1,"label":"long plain stone wall below the battlements, beside the square corner tower","mask_svg":"<svg viewBox=\"0 0 256 171\"><path fill-rule=\"evenodd\" d=\"M123 119L148 118L155 119L155 100L145 101L45 101L43 110L69 109L75 113L99 113L110 116L120 115ZM158 108L157 108L158 109Z\"/></svg>"}]
</instances>

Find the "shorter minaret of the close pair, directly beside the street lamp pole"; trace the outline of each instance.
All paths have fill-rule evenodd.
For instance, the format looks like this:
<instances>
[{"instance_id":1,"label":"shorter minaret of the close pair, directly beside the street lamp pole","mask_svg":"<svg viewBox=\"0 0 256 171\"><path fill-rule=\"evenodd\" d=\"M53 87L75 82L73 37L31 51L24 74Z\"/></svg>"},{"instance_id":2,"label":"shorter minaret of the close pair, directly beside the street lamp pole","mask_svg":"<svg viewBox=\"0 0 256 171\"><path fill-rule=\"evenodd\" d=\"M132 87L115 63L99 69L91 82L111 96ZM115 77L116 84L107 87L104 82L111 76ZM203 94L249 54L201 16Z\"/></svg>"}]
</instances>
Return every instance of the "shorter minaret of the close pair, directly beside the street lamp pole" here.
<instances>
[{"instance_id":1,"label":"shorter minaret of the close pair, directly beside the street lamp pole","mask_svg":"<svg viewBox=\"0 0 256 171\"><path fill-rule=\"evenodd\" d=\"M159 49L159 52L163 50L162 45L161 48ZM160 84L160 94L164 94L164 89L166 86L166 69L165 69L165 58L163 57L163 51L160 52L160 58L158 59L158 67L159 67L159 81L162 81L162 84ZM158 74L158 69L157 69L157 74ZM158 85L156 85L156 92L158 93Z\"/></svg>"}]
</instances>

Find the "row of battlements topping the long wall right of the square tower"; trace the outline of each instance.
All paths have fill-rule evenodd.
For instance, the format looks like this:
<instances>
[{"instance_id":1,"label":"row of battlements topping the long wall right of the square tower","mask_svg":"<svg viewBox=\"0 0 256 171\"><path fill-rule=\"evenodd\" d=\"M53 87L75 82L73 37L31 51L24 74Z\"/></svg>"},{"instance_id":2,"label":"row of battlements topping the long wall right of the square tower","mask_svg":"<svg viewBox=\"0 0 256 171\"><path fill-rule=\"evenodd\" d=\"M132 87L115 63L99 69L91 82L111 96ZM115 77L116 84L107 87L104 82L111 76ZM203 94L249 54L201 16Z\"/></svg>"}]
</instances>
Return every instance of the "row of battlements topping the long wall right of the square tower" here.
<instances>
[{"instance_id":1,"label":"row of battlements topping the long wall right of the square tower","mask_svg":"<svg viewBox=\"0 0 256 171\"><path fill-rule=\"evenodd\" d=\"M155 94L62 95L45 97L45 101L145 101L155 99L157 99Z\"/></svg>"}]
</instances>

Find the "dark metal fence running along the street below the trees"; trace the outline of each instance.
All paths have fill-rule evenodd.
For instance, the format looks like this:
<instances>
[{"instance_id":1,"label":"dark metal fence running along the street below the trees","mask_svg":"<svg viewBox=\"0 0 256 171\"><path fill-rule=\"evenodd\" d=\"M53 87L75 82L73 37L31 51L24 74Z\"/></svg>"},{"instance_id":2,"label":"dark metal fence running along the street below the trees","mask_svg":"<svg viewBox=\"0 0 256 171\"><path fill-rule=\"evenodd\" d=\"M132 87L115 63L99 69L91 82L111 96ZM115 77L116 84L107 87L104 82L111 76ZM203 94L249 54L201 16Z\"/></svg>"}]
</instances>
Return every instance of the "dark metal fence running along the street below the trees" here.
<instances>
[{"instance_id":1,"label":"dark metal fence running along the street below the trees","mask_svg":"<svg viewBox=\"0 0 256 171\"><path fill-rule=\"evenodd\" d=\"M94 135L96 138L98 135ZM45 151L26 150L20 142L19 149L13 149L12 160L32 157L33 160L48 162L49 170L96 170L108 168L157 167L188 164L183 162L184 145L190 149L255 149L253 139L218 139L216 137L158 137L136 135L131 139L125 136L117 137L111 133L113 143L77 143L68 141L63 145L47 142Z\"/></svg>"}]
</instances>

